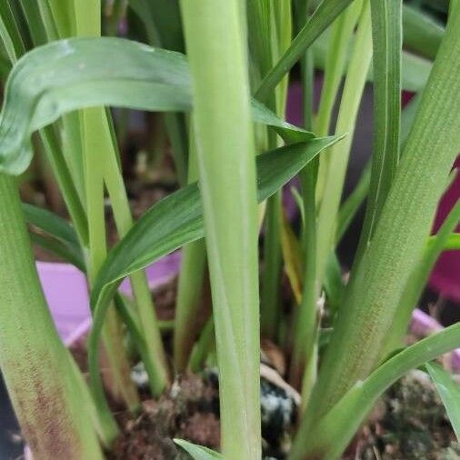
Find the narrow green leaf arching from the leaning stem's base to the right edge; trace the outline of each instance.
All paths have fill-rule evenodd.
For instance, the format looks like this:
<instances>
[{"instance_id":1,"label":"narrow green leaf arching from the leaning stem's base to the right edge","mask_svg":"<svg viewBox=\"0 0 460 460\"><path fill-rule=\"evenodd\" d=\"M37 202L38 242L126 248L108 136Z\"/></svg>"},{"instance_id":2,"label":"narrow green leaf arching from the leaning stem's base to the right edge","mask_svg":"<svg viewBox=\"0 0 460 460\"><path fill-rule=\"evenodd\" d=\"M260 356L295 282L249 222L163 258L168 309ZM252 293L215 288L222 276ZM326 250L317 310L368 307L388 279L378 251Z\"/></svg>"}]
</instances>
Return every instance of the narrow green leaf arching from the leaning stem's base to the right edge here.
<instances>
[{"instance_id":1,"label":"narrow green leaf arching from the leaning stem's base to the right edge","mask_svg":"<svg viewBox=\"0 0 460 460\"><path fill-rule=\"evenodd\" d=\"M297 432L290 460L335 460L345 450L377 399L411 369L460 347L460 323L446 327L408 346L380 365L364 381L358 381L320 421L306 413ZM353 416L350 416L353 415ZM308 439L305 445L305 439Z\"/></svg>"}]
</instances>

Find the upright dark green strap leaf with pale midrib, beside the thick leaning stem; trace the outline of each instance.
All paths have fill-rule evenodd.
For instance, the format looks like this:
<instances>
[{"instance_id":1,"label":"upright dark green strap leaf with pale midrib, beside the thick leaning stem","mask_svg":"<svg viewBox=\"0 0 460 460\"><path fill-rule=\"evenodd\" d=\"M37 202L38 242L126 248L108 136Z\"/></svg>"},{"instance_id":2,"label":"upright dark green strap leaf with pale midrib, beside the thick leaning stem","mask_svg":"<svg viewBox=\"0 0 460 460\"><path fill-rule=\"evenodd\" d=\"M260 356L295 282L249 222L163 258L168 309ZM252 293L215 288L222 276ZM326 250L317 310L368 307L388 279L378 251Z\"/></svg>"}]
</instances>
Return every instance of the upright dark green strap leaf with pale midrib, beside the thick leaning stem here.
<instances>
[{"instance_id":1,"label":"upright dark green strap leaf with pale midrib, beside the thick leaning stem","mask_svg":"<svg viewBox=\"0 0 460 460\"><path fill-rule=\"evenodd\" d=\"M374 65L374 147L372 173L361 247L372 239L375 225L395 177L401 132L402 2L371 0ZM358 259L360 249L358 249Z\"/></svg>"}]
</instances>

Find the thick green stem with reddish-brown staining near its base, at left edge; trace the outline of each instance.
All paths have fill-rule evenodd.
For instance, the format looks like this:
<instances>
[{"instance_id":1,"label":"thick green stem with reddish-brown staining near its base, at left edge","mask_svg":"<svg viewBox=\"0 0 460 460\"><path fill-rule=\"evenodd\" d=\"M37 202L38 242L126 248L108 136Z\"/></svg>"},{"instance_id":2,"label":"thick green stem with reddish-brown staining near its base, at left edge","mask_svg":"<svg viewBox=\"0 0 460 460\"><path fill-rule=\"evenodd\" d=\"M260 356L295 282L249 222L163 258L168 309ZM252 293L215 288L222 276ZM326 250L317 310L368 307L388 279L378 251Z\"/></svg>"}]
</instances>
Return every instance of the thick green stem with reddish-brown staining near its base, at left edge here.
<instances>
[{"instance_id":1,"label":"thick green stem with reddish-brown staining near its base, at left edge","mask_svg":"<svg viewBox=\"0 0 460 460\"><path fill-rule=\"evenodd\" d=\"M36 275L14 180L0 175L0 365L35 460L102 459L91 409Z\"/></svg>"}]
</instances>

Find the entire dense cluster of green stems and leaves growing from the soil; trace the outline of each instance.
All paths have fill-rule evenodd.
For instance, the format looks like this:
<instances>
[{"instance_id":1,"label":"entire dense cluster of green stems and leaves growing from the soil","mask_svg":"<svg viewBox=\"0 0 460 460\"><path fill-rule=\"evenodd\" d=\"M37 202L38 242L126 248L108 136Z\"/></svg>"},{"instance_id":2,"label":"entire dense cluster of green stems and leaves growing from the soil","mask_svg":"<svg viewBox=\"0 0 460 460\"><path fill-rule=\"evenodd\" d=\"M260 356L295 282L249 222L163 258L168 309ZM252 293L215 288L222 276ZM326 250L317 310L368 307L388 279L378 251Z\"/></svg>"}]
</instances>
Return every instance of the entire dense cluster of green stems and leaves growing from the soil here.
<instances>
[{"instance_id":1,"label":"entire dense cluster of green stems and leaves growing from the soil","mask_svg":"<svg viewBox=\"0 0 460 460\"><path fill-rule=\"evenodd\" d=\"M122 29L131 39L116 36ZM430 236L460 150L459 29L457 0L446 27L402 0L0 3L0 365L35 460L103 458L120 433L106 392L139 411L126 337L153 397L176 374L199 373L216 359L222 455L177 440L197 459L261 458L261 336L285 350L286 380L302 395L290 460L339 458L380 395L422 365L460 434L459 388L430 364L460 347L460 325L405 347L438 255L460 247L458 203ZM285 122L293 68L303 126ZM317 112L315 68L324 70ZM342 203L368 81L372 165ZM416 95L402 109L404 89ZM179 189L136 221L118 149L122 129L105 107L161 113L174 153ZM70 222L21 204L18 177L34 154ZM295 175L300 229L282 205ZM113 247L105 196L119 236ZM336 247L364 202L345 284ZM88 384L56 333L30 238L87 277ZM178 248L170 365L145 267ZM295 299L288 312L284 271ZM200 329L208 275L213 309ZM118 292L126 277L133 299ZM100 372L101 347L110 382Z\"/></svg>"}]
</instances>

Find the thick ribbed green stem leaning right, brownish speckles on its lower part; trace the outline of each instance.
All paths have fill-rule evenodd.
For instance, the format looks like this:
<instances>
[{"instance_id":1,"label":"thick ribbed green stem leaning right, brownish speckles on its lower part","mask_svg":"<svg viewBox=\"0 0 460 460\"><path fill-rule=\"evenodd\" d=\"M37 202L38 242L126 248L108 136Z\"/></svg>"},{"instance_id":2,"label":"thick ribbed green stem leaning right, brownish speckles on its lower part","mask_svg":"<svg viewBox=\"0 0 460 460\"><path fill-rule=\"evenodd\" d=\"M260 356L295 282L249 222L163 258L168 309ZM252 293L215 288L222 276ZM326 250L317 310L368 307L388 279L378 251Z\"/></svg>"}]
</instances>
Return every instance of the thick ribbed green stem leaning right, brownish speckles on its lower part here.
<instances>
[{"instance_id":1,"label":"thick ribbed green stem leaning right, brownish speckles on its lower part","mask_svg":"<svg viewBox=\"0 0 460 460\"><path fill-rule=\"evenodd\" d=\"M460 149L460 7L451 5L443 44L375 229L352 274L315 391L324 414L375 367L407 279L421 255ZM365 353L363 353L365 350Z\"/></svg>"}]
</instances>

